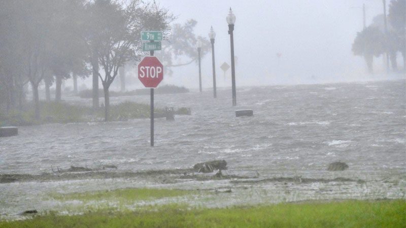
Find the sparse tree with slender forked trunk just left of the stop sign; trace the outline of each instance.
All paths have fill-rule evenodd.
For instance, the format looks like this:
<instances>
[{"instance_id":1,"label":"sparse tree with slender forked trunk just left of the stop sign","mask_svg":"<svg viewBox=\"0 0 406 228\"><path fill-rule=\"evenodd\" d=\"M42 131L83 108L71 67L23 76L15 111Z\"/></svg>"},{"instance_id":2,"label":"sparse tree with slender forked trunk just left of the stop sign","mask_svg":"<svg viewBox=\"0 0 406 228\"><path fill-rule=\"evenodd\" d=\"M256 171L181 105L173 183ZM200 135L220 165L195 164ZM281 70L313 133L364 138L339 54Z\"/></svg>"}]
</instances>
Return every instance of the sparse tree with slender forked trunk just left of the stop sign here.
<instances>
[{"instance_id":1,"label":"sparse tree with slender forked trunk just left of the stop sign","mask_svg":"<svg viewBox=\"0 0 406 228\"><path fill-rule=\"evenodd\" d=\"M156 4L132 0L126 5L118 2L97 0L92 11L97 16L97 33L93 33L99 64L104 75L98 73L105 94L105 121L109 120L109 88L118 70L130 59L138 60L143 29L168 30L173 16Z\"/></svg>"}]
</instances>

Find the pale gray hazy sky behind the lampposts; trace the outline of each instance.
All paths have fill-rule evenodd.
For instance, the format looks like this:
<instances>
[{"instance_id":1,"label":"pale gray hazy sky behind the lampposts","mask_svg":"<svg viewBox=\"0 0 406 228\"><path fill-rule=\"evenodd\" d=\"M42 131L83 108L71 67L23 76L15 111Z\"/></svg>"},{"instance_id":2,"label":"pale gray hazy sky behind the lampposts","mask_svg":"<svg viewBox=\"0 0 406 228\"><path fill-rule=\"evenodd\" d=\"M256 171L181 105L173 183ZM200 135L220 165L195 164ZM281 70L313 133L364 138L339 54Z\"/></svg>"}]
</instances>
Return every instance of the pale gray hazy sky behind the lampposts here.
<instances>
[{"instance_id":1,"label":"pale gray hazy sky behind the lampposts","mask_svg":"<svg viewBox=\"0 0 406 228\"><path fill-rule=\"evenodd\" d=\"M389 5L389 0L387 0ZM234 49L238 57L236 84L261 85L301 83L309 80L351 79L364 74L362 58L353 56L351 45L362 29L362 4L366 5L366 22L383 12L381 0L157 0L184 23L195 19L196 34L208 36L213 25L216 72L220 86L224 82L220 64L230 63L230 43L225 20L229 7L235 16ZM279 59L276 53L282 53ZM382 60L376 59L377 70ZM212 86L211 55L202 60L203 87ZM229 72L228 72L229 73ZM314 75L312 79L312 75ZM168 84L198 87L196 64L174 68Z\"/></svg>"}]
</instances>

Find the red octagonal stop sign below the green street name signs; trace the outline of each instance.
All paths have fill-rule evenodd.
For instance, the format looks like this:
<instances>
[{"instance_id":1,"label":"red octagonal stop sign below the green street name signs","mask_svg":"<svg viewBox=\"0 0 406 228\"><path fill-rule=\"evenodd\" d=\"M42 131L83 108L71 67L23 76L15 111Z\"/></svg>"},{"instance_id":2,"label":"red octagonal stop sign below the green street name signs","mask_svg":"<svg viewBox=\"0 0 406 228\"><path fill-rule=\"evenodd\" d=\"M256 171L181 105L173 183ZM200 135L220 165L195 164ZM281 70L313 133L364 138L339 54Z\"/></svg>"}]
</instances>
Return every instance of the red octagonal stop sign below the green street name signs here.
<instances>
[{"instance_id":1,"label":"red octagonal stop sign below the green street name signs","mask_svg":"<svg viewBox=\"0 0 406 228\"><path fill-rule=\"evenodd\" d=\"M163 79L163 66L158 58L145 56L138 64L138 79L147 88L155 88Z\"/></svg>"}]
</instances>

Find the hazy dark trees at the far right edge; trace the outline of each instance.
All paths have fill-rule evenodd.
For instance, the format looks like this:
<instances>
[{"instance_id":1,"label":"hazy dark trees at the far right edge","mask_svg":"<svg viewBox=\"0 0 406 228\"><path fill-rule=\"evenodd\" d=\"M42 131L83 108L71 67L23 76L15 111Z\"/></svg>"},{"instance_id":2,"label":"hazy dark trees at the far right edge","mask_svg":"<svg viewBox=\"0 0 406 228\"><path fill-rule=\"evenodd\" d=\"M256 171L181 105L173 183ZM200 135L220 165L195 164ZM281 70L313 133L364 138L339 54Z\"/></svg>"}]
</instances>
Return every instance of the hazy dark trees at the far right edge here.
<instances>
[{"instance_id":1,"label":"hazy dark trees at the far right edge","mask_svg":"<svg viewBox=\"0 0 406 228\"><path fill-rule=\"evenodd\" d=\"M398 71L397 56L403 59L406 70L406 0L392 0L389 5L387 31L384 27L384 15L374 18L374 22L357 33L352 51L354 55L365 59L368 71L373 72L374 56L389 54L393 71Z\"/></svg>"}]
</instances>

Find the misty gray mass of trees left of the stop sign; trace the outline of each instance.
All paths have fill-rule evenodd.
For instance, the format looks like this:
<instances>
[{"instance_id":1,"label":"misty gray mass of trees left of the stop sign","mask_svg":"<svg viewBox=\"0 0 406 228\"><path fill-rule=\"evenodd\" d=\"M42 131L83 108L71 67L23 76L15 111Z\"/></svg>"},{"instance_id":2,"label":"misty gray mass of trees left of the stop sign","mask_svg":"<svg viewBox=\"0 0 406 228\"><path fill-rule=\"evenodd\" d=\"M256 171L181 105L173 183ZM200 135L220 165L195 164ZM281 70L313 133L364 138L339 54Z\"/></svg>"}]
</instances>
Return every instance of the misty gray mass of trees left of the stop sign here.
<instances>
[{"instance_id":1,"label":"misty gray mass of trees left of the stop sign","mask_svg":"<svg viewBox=\"0 0 406 228\"><path fill-rule=\"evenodd\" d=\"M118 70L146 54L140 31L168 33L173 19L155 2L141 0L0 1L0 111L21 108L29 84L40 119L40 84L50 100L55 83L55 101L60 101L63 80L92 72L93 106L98 107L100 80L108 121L109 88Z\"/></svg>"}]
</instances>

